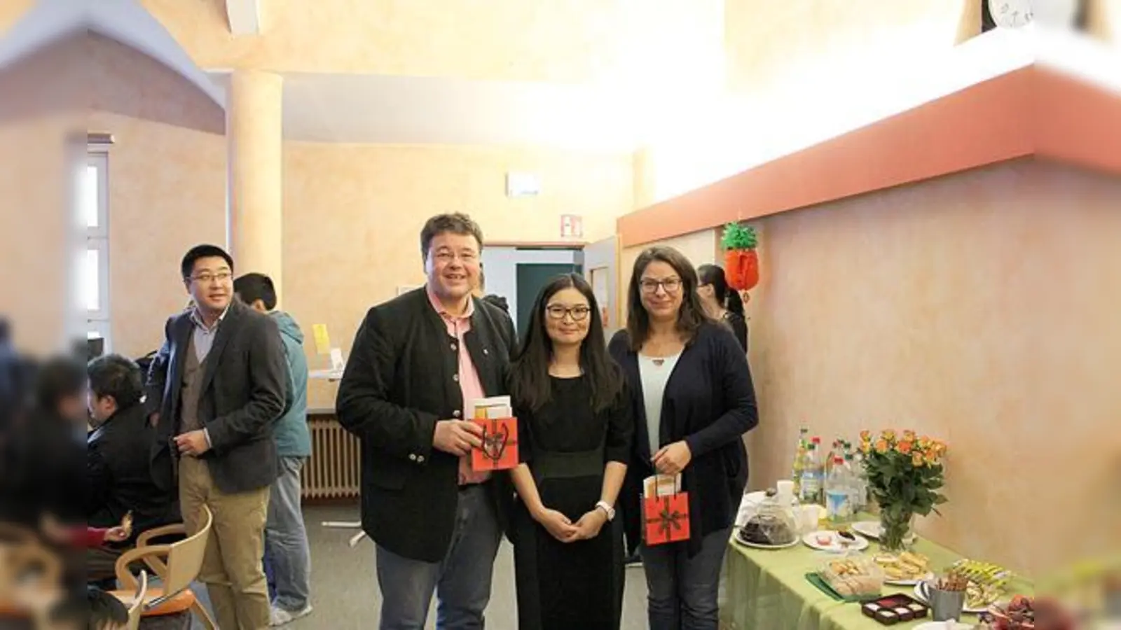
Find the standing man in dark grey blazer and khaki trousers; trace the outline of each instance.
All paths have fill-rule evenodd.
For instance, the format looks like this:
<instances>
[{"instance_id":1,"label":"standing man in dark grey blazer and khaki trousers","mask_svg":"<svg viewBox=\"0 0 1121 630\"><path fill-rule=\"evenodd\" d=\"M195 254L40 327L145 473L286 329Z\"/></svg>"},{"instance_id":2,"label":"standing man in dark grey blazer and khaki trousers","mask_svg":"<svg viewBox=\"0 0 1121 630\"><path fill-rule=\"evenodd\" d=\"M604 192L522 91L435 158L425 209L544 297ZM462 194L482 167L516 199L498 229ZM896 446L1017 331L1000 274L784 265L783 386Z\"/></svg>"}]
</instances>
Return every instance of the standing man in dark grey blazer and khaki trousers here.
<instances>
[{"instance_id":1,"label":"standing man in dark grey blazer and khaki trousers","mask_svg":"<svg viewBox=\"0 0 1121 630\"><path fill-rule=\"evenodd\" d=\"M197 245L183 258L194 307L167 321L148 372L156 426L152 479L178 489L187 534L214 516L200 581L223 630L269 626L263 554L269 488L278 474L272 425L288 368L276 323L233 296L233 259Z\"/></svg>"}]
</instances>

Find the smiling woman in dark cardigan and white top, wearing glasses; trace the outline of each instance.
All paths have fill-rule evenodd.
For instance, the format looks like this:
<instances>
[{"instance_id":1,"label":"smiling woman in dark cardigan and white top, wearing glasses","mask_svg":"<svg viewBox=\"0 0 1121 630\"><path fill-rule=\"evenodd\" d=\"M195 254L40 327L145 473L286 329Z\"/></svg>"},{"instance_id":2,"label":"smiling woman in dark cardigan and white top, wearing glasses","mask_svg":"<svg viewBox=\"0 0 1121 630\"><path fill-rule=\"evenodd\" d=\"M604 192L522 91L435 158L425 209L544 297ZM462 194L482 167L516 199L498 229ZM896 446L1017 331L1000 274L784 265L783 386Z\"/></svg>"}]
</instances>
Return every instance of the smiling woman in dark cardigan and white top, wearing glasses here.
<instances>
[{"instance_id":1,"label":"smiling woman in dark cardigan and white top, wearing glasses","mask_svg":"<svg viewBox=\"0 0 1121 630\"><path fill-rule=\"evenodd\" d=\"M611 340L634 420L631 471L682 475L687 541L642 546L651 630L715 630L720 569L748 480L743 434L759 423L743 350L697 298L697 275L677 250L634 261L627 330Z\"/></svg>"}]
</instances>

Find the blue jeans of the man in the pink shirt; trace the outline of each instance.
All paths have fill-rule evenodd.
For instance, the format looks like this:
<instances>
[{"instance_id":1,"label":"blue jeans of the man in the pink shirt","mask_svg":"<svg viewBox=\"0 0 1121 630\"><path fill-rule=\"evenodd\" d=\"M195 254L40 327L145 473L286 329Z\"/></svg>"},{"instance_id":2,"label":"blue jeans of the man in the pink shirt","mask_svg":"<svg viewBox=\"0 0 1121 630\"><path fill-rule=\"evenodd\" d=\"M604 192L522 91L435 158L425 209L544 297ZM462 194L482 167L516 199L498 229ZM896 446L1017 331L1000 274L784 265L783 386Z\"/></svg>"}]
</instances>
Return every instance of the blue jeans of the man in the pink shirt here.
<instances>
[{"instance_id":1,"label":"blue jeans of the man in the pink shirt","mask_svg":"<svg viewBox=\"0 0 1121 630\"><path fill-rule=\"evenodd\" d=\"M414 560L378 546L381 630L423 630L434 591L438 630L481 630L501 536L488 489L471 485L460 491L443 562Z\"/></svg>"}]
</instances>

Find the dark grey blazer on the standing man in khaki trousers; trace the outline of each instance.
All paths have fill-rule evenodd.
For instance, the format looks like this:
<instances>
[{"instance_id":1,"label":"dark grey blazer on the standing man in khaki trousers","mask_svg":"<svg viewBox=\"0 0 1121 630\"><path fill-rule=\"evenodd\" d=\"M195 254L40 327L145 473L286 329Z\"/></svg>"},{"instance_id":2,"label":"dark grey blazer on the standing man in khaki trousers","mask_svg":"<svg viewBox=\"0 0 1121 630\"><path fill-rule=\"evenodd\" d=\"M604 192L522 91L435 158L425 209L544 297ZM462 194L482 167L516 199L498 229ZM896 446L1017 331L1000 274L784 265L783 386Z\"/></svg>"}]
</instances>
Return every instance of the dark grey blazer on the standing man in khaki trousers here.
<instances>
[{"instance_id":1,"label":"dark grey blazer on the standing man in khaki trousers","mask_svg":"<svg viewBox=\"0 0 1121 630\"><path fill-rule=\"evenodd\" d=\"M151 446L152 479L164 489L175 484L170 439L179 429L179 393L186 351L194 333L191 313L172 316L163 348L148 371L148 414L159 413ZM219 324L206 355L198 416L210 433L211 450L202 458L222 492L248 492L277 478L272 425L284 411L288 364L276 322L233 302Z\"/></svg>"}]
</instances>

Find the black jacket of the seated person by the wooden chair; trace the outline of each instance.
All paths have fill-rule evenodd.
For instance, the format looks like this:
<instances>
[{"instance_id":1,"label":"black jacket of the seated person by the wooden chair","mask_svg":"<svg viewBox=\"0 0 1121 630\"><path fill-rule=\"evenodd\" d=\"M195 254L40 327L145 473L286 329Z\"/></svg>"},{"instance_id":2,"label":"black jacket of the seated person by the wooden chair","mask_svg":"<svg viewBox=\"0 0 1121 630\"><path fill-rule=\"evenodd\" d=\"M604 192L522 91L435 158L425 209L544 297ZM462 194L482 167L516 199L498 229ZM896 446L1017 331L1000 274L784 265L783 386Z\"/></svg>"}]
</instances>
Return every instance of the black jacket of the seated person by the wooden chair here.
<instances>
[{"instance_id":1,"label":"black jacket of the seated person by the wooden chair","mask_svg":"<svg viewBox=\"0 0 1121 630\"><path fill-rule=\"evenodd\" d=\"M155 433L143 406L133 405L86 436L90 527L114 527L131 511L135 540L141 531L182 520L175 492L160 489L151 479L149 446Z\"/></svg>"}]
</instances>

